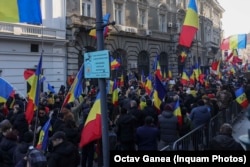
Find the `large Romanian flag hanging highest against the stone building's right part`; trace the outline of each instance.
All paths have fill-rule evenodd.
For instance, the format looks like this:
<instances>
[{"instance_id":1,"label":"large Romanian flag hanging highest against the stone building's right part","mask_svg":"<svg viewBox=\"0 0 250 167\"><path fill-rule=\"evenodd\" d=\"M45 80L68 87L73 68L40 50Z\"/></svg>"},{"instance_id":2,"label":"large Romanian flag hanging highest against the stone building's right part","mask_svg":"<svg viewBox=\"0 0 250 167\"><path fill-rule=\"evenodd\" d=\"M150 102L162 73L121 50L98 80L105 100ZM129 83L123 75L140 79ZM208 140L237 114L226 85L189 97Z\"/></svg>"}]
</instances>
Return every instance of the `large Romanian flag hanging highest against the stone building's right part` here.
<instances>
[{"instance_id":1,"label":"large Romanian flag hanging highest against the stone building's right part","mask_svg":"<svg viewBox=\"0 0 250 167\"><path fill-rule=\"evenodd\" d=\"M190 47L199 27L198 10L195 0L190 0L180 33L179 44Z\"/></svg>"}]
</instances>

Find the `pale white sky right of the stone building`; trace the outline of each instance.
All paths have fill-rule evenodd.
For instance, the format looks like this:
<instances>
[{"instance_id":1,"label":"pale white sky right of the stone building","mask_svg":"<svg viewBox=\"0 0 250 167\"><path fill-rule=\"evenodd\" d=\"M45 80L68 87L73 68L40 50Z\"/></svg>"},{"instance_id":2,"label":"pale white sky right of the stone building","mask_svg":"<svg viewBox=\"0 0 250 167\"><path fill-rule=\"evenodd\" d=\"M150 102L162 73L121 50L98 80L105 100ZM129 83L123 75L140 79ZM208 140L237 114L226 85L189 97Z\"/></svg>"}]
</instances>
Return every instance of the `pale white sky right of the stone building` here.
<instances>
[{"instance_id":1,"label":"pale white sky right of the stone building","mask_svg":"<svg viewBox=\"0 0 250 167\"><path fill-rule=\"evenodd\" d=\"M222 17L224 36L250 32L250 0L218 0L225 12Z\"/></svg>"}]
</instances>

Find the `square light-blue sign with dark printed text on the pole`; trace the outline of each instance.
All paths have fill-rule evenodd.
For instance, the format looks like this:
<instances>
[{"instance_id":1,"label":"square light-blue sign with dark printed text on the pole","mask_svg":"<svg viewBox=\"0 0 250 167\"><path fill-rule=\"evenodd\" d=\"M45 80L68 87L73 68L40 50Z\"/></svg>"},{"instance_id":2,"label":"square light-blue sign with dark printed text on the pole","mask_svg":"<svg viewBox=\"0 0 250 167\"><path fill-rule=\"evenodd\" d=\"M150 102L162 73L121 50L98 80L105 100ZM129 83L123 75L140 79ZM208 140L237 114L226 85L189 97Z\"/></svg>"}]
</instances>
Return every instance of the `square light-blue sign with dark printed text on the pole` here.
<instances>
[{"instance_id":1,"label":"square light-blue sign with dark printed text on the pole","mask_svg":"<svg viewBox=\"0 0 250 167\"><path fill-rule=\"evenodd\" d=\"M109 50L84 53L85 78L110 78Z\"/></svg>"}]
</instances>

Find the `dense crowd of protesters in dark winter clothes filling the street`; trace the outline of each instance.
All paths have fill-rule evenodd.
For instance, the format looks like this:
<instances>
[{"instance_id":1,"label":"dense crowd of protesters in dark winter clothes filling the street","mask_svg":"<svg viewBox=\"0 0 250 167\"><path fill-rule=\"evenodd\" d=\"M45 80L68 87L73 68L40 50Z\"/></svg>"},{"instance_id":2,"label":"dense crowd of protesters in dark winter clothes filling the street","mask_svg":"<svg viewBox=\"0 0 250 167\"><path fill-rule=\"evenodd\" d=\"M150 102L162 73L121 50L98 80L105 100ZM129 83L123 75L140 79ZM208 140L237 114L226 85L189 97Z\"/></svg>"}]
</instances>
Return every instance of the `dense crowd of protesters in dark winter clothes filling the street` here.
<instances>
[{"instance_id":1,"label":"dense crowd of protesters in dark winter clothes filling the street","mask_svg":"<svg viewBox=\"0 0 250 167\"><path fill-rule=\"evenodd\" d=\"M193 128L209 122L219 111L226 110L235 99L234 91L239 86L244 86L247 97L250 96L247 82L241 82L240 77L231 78L231 81L230 78L223 81L210 77L208 88L199 83L183 86L178 78L174 84L167 84L167 94L160 112L136 79L119 89L118 106L112 104L108 95L110 150L160 150ZM236 84L233 85L233 81ZM78 147L82 128L97 92L96 85L89 85L86 93L63 106L67 93L64 86L58 93L42 92L31 124L25 119L27 102L24 98L16 94L6 103L1 103L0 166L22 167L28 162L31 166L37 163L48 167L76 167L80 164L91 167L95 161L102 166L101 139ZM177 100L180 102L182 124L173 114ZM35 148L48 119L51 119L51 129L48 147L42 152L44 158ZM221 136L215 138L208 149L242 149L237 144L229 144L235 143L230 128L228 124L224 125Z\"/></svg>"}]
</instances>

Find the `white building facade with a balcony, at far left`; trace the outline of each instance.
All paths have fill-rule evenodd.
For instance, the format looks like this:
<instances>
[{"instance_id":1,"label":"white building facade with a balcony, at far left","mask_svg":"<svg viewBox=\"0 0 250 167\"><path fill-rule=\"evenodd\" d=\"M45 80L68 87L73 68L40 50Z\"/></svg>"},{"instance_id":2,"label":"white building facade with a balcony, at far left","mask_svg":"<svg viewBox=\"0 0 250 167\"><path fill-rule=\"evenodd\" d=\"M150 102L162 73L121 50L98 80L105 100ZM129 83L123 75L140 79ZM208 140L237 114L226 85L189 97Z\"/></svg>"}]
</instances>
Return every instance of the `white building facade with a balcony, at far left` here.
<instances>
[{"instance_id":1,"label":"white building facade with a balcony, at far left","mask_svg":"<svg viewBox=\"0 0 250 167\"><path fill-rule=\"evenodd\" d=\"M36 70L42 52L42 74L46 80L41 91L48 90L47 83L58 91L66 82L66 0L40 2L42 25L0 21L0 77L23 97L28 90L24 71Z\"/></svg>"}]
</instances>

